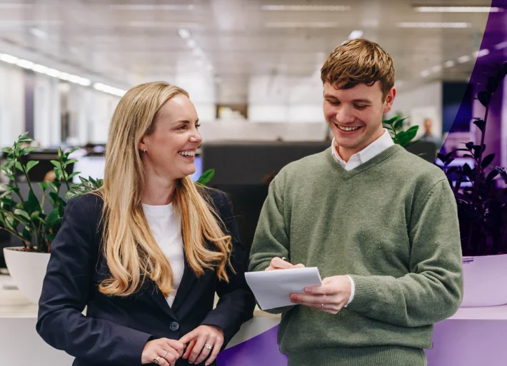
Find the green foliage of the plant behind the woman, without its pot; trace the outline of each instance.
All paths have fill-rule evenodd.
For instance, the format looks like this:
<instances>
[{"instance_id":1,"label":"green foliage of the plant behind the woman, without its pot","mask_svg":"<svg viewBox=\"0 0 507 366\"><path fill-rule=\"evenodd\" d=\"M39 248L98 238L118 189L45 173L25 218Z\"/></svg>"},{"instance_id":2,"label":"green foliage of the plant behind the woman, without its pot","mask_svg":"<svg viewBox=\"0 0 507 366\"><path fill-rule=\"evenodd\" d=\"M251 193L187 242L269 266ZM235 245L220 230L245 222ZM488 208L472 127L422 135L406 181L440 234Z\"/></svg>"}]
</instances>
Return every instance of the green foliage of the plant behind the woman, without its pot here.
<instances>
[{"instance_id":1,"label":"green foliage of the plant behind the woman, without its pot","mask_svg":"<svg viewBox=\"0 0 507 366\"><path fill-rule=\"evenodd\" d=\"M39 183L42 190L42 198L39 201L28 175L31 168L34 168L39 161L29 161L26 164L21 162L21 156L36 150L36 147L33 146L23 147L25 143L34 141L33 138L26 135L27 133L24 133L19 136L18 141L12 147L2 149L7 153L7 161L1 166L1 170L4 171L4 174L12 183L1 185L5 192L0 195L0 230L6 230L11 235L19 238L24 243L22 249L24 251L50 253L51 242L61 227L66 199L100 188L103 180L79 177L81 183L71 183L72 178L80 172L68 174L65 168L76 162L74 159L69 159L69 155L77 148L66 153L63 153L59 148L58 160L51 161L54 165L56 181ZM28 183L29 193L27 197L21 195L19 173L26 178L26 183ZM214 169L204 172L196 183L206 185L214 177L214 173ZM62 185L66 185L67 188L66 199L61 198L59 195ZM52 210L48 214L44 212L45 200L49 200L52 206ZM18 230L20 224L23 228L21 232Z\"/></svg>"}]
</instances>

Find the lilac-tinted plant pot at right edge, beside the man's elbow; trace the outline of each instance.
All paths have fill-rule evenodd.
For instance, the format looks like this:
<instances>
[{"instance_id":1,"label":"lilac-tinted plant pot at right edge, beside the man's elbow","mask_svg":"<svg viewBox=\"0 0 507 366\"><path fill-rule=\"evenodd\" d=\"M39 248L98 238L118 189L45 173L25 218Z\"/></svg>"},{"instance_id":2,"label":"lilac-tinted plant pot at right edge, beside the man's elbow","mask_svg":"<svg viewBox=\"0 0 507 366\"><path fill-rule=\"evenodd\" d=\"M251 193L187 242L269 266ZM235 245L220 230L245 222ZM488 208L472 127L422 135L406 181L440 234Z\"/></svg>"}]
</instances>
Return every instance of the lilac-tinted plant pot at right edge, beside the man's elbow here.
<instances>
[{"instance_id":1,"label":"lilac-tinted plant pot at right edge, beside the man's elbow","mask_svg":"<svg viewBox=\"0 0 507 366\"><path fill-rule=\"evenodd\" d=\"M507 254L463 257L461 307L507 304Z\"/></svg>"}]
</instances>

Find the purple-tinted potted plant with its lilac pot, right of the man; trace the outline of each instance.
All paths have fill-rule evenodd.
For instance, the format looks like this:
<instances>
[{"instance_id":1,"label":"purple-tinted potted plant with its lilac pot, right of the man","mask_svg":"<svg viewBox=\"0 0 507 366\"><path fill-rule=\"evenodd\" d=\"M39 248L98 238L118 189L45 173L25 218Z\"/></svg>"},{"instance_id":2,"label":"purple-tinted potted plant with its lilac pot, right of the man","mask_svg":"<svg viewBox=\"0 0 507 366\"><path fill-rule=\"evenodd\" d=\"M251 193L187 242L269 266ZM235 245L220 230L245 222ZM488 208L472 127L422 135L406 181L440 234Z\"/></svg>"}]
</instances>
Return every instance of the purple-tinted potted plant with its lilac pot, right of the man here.
<instances>
[{"instance_id":1,"label":"purple-tinted potted plant with its lilac pot, right of the man","mask_svg":"<svg viewBox=\"0 0 507 366\"><path fill-rule=\"evenodd\" d=\"M498 188L495 179L507 184L504 168L491 165L495 154L486 153L484 143L488 112L499 84L507 73L507 63L498 65L488 76L486 90L477 94L486 108L484 118L472 118L481 131L481 142L465 143L446 155L438 154L458 205L463 251L464 298L461 306L493 306L507 303L507 189ZM473 167L451 166L456 151L473 159Z\"/></svg>"}]
</instances>

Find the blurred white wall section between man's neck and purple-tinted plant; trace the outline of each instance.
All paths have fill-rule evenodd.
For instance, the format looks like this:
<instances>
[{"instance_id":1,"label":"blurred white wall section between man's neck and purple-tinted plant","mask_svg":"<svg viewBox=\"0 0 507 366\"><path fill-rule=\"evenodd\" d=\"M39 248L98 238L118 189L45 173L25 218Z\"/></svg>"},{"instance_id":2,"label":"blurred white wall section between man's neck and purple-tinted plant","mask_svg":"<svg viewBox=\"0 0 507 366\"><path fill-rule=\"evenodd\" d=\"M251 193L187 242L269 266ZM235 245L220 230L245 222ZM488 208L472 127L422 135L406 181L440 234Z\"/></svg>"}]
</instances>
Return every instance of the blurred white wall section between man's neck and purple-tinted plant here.
<instances>
[{"instance_id":1,"label":"blurred white wall section between man's neck and purple-tinted plant","mask_svg":"<svg viewBox=\"0 0 507 366\"><path fill-rule=\"evenodd\" d=\"M394 98L393 108L388 116L401 112L408 116L410 126L421 126L418 136L423 134L424 118L433 121L433 133L442 136L442 83L434 81L411 90L401 89Z\"/></svg>"}]
</instances>

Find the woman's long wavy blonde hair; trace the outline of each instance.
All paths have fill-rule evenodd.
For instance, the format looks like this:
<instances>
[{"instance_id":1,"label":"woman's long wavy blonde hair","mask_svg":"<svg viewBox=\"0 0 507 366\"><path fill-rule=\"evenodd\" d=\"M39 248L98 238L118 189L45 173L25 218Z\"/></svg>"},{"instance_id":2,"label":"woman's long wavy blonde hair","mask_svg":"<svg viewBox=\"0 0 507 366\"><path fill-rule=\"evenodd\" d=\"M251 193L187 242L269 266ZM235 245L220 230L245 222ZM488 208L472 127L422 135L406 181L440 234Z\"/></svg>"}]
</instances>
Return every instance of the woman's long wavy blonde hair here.
<instances>
[{"instance_id":1,"label":"woman's long wavy blonde hair","mask_svg":"<svg viewBox=\"0 0 507 366\"><path fill-rule=\"evenodd\" d=\"M127 91L114 111L104 185L96 192L104 200L103 251L111 270L111 278L99 285L106 295L132 295L146 278L164 296L173 290L171 265L151 234L141 206L145 181L138 146L143 136L154 131L157 111L179 94L189 96L169 83L144 83ZM229 281L231 236L224 234L224 224L206 194L206 188L189 176L176 180L173 205L181 217L184 253L196 276L216 270L220 280Z\"/></svg>"}]
</instances>

